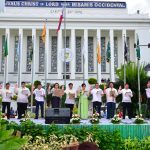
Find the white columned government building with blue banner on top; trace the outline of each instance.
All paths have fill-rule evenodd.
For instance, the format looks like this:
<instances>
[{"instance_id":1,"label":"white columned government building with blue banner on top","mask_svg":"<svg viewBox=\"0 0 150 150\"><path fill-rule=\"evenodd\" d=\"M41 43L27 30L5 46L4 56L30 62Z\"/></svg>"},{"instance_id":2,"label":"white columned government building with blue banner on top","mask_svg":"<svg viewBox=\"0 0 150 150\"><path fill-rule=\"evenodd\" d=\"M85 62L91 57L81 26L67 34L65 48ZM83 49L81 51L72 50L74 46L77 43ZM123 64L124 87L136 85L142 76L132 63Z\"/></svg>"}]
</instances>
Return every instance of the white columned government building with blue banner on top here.
<instances>
[{"instance_id":1,"label":"white columned government building with blue banner on top","mask_svg":"<svg viewBox=\"0 0 150 150\"><path fill-rule=\"evenodd\" d=\"M18 81L17 47L20 37L20 81L31 82L30 53L34 41L34 80L63 83L64 20L56 33L64 1L11 1L6 0L4 11L0 13L0 82L4 81L5 37L8 37L8 61L6 80ZM134 43L139 30L150 28L147 14L128 14L126 2L67 1L66 2L66 47L71 60L66 63L67 83L81 84L94 77L110 78L115 81L115 70L124 63L124 36L127 39L128 58L136 61ZM46 43L41 33L46 22ZM101 64L97 66L96 47L100 41ZM107 43L110 41L111 61L106 62ZM83 64L83 54L84 61ZM46 60L46 63L45 63ZM84 66L83 66L84 65ZM47 69L46 69L47 68ZM46 69L46 71L45 71ZM83 70L84 69L84 70ZM20 82L19 81L19 82Z\"/></svg>"}]
</instances>

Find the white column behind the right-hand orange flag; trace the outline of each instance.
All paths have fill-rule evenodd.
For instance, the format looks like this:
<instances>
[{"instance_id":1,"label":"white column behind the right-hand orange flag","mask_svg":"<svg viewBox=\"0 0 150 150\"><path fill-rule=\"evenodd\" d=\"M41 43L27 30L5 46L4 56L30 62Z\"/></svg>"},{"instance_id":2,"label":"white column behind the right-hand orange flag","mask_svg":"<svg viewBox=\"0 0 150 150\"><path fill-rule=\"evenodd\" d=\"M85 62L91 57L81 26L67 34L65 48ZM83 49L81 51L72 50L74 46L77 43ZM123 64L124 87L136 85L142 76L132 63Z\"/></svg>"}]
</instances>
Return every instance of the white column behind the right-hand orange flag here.
<instances>
[{"instance_id":1,"label":"white column behind the right-hand orange flag","mask_svg":"<svg viewBox=\"0 0 150 150\"><path fill-rule=\"evenodd\" d=\"M97 29L97 45L96 45L96 48L97 48L97 46L98 46L98 42L99 42L99 44L100 44L100 56L101 56L101 31L100 31L100 29ZM96 58L97 58L97 54L96 54ZM102 78L102 75L101 75L101 63L100 64L98 64L98 62L96 61L96 63L97 63L97 76L98 76L98 83L100 84L101 83L101 78Z\"/></svg>"}]
</instances>

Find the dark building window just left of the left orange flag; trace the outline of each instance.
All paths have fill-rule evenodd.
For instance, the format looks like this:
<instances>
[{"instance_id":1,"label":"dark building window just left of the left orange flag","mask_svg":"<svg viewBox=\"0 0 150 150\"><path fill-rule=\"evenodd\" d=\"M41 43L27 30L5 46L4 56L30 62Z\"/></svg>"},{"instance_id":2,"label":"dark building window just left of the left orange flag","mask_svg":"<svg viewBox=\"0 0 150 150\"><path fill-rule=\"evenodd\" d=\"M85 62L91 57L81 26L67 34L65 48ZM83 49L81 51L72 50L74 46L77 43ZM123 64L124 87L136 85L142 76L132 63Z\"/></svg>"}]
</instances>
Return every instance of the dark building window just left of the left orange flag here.
<instances>
[{"instance_id":1,"label":"dark building window just left of the left orange flag","mask_svg":"<svg viewBox=\"0 0 150 150\"><path fill-rule=\"evenodd\" d=\"M45 64L45 43L42 41L42 37L39 37L39 72L44 72Z\"/></svg>"}]
</instances>

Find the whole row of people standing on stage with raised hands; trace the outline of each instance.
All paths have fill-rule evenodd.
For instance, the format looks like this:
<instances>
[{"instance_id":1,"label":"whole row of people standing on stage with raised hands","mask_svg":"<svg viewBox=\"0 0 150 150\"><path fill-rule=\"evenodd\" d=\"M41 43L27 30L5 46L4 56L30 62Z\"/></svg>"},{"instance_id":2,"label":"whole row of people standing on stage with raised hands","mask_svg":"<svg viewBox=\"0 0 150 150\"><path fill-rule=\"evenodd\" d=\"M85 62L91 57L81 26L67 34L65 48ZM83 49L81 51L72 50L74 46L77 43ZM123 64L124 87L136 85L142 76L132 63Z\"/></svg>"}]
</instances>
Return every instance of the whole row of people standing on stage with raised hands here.
<instances>
[{"instance_id":1,"label":"whole row of people standing on stage with raised hands","mask_svg":"<svg viewBox=\"0 0 150 150\"><path fill-rule=\"evenodd\" d=\"M150 112L150 81L147 83L146 96L147 96L147 108ZM96 111L101 114L102 97L106 95L106 118L111 119L116 113L116 97L122 94L122 113L119 112L122 119L125 119L126 112L128 112L128 118L132 118L132 100L133 97L132 90L129 88L129 84L125 84L122 88L114 88L113 82L109 83L108 88L104 87L104 90L99 88L99 84L96 83L95 86L91 86L90 89L86 88L86 84L83 83L81 87L77 90L74 89L73 83L69 83L68 87L65 89L64 86L59 86L55 83L53 88L49 85L47 91L42 88L42 84L39 83L36 89L33 89L33 94L35 95L36 109L35 109L35 119L39 118L39 107L41 108L41 117L44 118L44 102L46 94L52 95L51 107L60 108L61 97L66 94L65 107L70 109L70 118L72 117L73 108L76 105L76 98L79 98L78 102L78 114L81 119L88 119L89 117L89 96L92 95L92 106L93 113ZM7 118L10 118L10 104L12 97L17 95L17 114L18 119L21 119L27 110L28 97L31 95L30 90L26 87L26 83L22 82L21 87L17 86L12 91L10 89L10 83L6 83L5 88L0 86L0 95L2 96L2 113L5 114L7 108ZM122 115L121 115L122 114ZM101 114L102 115L102 114Z\"/></svg>"}]
</instances>

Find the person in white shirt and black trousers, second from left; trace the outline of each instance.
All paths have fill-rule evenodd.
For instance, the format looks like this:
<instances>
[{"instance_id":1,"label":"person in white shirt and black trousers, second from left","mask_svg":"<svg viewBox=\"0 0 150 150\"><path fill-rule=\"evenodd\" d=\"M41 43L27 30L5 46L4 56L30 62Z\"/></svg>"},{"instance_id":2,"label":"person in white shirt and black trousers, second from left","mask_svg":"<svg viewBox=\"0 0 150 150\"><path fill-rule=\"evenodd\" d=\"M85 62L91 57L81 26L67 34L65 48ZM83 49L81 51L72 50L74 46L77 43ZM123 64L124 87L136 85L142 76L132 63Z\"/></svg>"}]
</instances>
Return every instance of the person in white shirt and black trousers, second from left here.
<instances>
[{"instance_id":1,"label":"person in white shirt and black trousers, second from left","mask_svg":"<svg viewBox=\"0 0 150 150\"><path fill-rule=\"evenodd\" d=\"M31 95L25 82L21 82L21 88L15 88L15 94L17 94L18 119L21 119L22 115L25 116L28 105L28 97Z\"/></svg>"}]
</instances>

